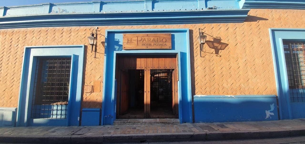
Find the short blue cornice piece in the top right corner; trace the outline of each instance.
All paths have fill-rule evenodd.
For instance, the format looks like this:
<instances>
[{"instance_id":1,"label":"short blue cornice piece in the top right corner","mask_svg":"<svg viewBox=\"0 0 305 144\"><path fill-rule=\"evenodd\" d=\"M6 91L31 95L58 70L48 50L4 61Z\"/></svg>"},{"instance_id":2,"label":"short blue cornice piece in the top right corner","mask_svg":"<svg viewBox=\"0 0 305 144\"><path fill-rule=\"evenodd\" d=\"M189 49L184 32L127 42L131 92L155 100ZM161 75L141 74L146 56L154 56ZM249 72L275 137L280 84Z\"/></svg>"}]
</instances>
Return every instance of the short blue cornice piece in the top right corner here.
<instances>
[{"instance_id":1,"label":"short blue cornice piece in the top right corner","mask_svg":"<svg viewBox=\"0 0 305 144\"><path fill-rule=\"evenodd\" d=\"M242 9L305 9L304 0L245 0Z\"/></svg>"}]
</instances>

